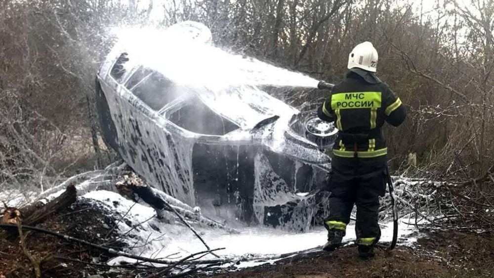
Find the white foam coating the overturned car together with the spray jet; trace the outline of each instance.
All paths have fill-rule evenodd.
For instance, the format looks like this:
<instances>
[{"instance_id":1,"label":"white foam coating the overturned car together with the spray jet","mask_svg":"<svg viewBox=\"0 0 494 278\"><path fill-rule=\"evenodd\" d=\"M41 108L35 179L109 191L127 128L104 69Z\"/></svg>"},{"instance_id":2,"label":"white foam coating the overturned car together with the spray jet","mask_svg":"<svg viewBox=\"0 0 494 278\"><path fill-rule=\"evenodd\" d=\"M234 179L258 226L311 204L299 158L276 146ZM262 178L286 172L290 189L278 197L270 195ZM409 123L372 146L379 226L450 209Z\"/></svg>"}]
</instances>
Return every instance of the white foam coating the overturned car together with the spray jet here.
<instances>
[{"instance_id":1,"label":"white foam coating the overturned car together with the spray jet","mask_svg":"<svg viewBox=\"0 0 494 278\"><path fill-rule=\"evenodd\" d=\"M279 217L283 220L280 221L281 225L296 231L309 229L315 211L312 209L314 196L297 195L295 186L289 186L290 180L285 181L283 178L286 177L274 172L266 153L282 154L289 159L315 165L323 171L329 169L328 156L321 152L315 143L290 129L291 120L300 111L263 92L259 86L315 88L317 81L299 73L211 46L209 29L197 22L182 22L166 30L148 28L121 31L120 42L112 48L100 69L100 78L119 141L122 143L120 154L129 166L149 185L163 190L190 206L197 206L200 203L198 201L200 196L196 194L194 185L194 146L200 143L237 147L238 151L235 154L237 165L240 147L247 146L248 151L252 151L254 162L255 179L252 181L254 198L251 204L256 220L263 222L267 205L296 202L296 205L293 205L296 206L293 208L294 213L288 210L282 212L283 216ZM125 52L128 55L123 55ZM137 66L152 68L174 84L178 84L173 87L173 90L180 93L175 99L176 103L168 103L170 106L162 108L163 111L153 111L140 105L142 104L140 102L136 103L134 98L128 98L132 91L123 90L124 86L118 85L111 74L108 74L115 60L125 56L128 61L123 62L122 65L119 63L127 74L122 75L122 82L132 74L130 69ZM180 105L192 104L196 101L205 104L220 116L221 121L230 120L239 128L215 138L179 129L169 116L180 111L178 108ZM175 111L174 108L178 110ZM264 126L257 126L268 119L276 120L268 121ZM201 119L198 122L201 123ZM232 153L225 152L224 155L226 157ZM302 163L297 165L293 176L296 176L296 170L302 167ZM228 165L217 165L217 167L220 169ZM230 179L228 183L233 181L233 177L227 179ZM311 183L310 186L314 185L312 181ZM233 200L232 192L220 191L220 185L215 189L208 193L211 196L216 193L216 195L228 195L228 203L225 202L221 209L229 209L229 214L235 215L242 203L236 207L235 203L230 202ZM251 196L245 194L241 197L245 203L246 198ZM212 202L208 201L208 203L211 203L211 209L217 208L217 206L213 208ZM203 209L207 214L207 208L203 207ZM209 215L209 217L214 216ZM289 223L285 221L288 218Z\"/></svg>"}]
</instances>

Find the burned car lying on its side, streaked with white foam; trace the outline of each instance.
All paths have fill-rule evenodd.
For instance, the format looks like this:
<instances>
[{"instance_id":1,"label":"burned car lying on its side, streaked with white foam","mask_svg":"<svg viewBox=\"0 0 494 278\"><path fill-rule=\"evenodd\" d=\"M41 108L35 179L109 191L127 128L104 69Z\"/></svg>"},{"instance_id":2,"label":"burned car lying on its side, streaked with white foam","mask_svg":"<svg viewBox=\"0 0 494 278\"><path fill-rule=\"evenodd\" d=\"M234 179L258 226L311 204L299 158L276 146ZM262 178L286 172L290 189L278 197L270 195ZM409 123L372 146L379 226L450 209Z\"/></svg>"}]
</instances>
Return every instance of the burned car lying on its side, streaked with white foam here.
<instances>
[{"instance_id":1,"label":"burned car lying on its side, streaked with white foam","mask_svg":"<svg viewBox=\"0 0 494 278\"><path fill-rule=\"evenodd\" d=\"M203 26L185 25L210 40ZM124 44L97 74L96 102L105 141L150 185L217 221L308 229L310 192L330 166L297 109L256 86L181 84Z\"/></svg>"}]
</instances>

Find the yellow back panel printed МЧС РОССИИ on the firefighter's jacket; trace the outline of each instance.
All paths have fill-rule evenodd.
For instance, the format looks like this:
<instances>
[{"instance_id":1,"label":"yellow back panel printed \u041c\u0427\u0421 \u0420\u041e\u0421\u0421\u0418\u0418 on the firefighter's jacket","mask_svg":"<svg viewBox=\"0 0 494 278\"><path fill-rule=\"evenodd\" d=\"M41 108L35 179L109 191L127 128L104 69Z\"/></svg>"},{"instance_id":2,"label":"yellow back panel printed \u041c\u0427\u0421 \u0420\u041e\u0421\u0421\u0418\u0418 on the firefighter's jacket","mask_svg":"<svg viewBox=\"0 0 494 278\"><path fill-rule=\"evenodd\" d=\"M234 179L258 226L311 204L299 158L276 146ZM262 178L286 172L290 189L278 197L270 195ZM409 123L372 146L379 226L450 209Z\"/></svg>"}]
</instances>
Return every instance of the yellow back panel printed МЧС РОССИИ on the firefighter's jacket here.
<instances>
[{"instance_id":1,"label":"yellow back panel printed \u041c\u0427\u0421 \u0420\u041e\u0421\u0421\u0418\u0418 on the firefighter's jacket","mask_svg":"<svg viewBox=\"0 0 494 278\"><path fill-rule=\"evenodd\" d=\"M335 93L331 109L381 108L381 92Z\"/></svg>"}]
</instances>

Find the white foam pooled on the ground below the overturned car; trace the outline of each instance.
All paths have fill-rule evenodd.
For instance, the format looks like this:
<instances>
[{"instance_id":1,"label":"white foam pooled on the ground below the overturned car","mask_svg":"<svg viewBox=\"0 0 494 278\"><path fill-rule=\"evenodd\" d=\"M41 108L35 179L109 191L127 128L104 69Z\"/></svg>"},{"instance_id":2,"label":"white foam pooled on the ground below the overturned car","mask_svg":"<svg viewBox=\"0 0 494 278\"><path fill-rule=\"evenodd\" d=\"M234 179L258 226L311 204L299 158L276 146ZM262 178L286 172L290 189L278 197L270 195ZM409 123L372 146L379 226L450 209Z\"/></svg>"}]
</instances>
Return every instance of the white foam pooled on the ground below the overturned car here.
<instances>
[{"instance_id":1,"label":"white foam pooled on the ground below the overturned car","mask_svg":"<svg viewBox=\"0 0 494 278\"><path fill-rule=\"evenodd\" d=\"M114 207L115 202L119 205L116 210L121 214L126 214L126 220L118 225L120 233L128 232L132 226L141 224L141 228L129 232L125 237L130 248L125 251L150 258L165 258L171 254L178 253L168 259L179 259L180 257L206 250L202 242L186 227L180 223L165 224L156 218L152 218L155 211L147 206L135 204L127 200L118 193L111 191L92 191L83 197L100 201L110 207ZM128 212L128 213L127 213ZM152 218L149 221L147 219ZM144 223L143 223L144 222ZM416 241L417 229L405 224L407 219L401 220L399 225L399 244L410 245ZM128 226L131 223L132 225ZM228 224L227 224L228 225ZM158 229L157 229L158 228ZM290 252L312 249L323 245L326 242L326 229L315 227L306 233L292 233L272 228L254 226L238 229L240 234L231 234L223 230L195 227L200 232L206 243L214 248L226 248L216 251L215 254L225 257L259 257L265 258L271 255L280 255ZM387 223L381 228L381 241L391 241L393 235L393 223ZM347 234L344 241L355 240L355 224L352 222L347 227ZM207 255L203 259L214 259L212 255ZM266 262L274 262L277 259L243 262L237 267L250 267ZM118 257L110 264L121 261L132 262L127 258Z\"/></svg>"}]
</instances>

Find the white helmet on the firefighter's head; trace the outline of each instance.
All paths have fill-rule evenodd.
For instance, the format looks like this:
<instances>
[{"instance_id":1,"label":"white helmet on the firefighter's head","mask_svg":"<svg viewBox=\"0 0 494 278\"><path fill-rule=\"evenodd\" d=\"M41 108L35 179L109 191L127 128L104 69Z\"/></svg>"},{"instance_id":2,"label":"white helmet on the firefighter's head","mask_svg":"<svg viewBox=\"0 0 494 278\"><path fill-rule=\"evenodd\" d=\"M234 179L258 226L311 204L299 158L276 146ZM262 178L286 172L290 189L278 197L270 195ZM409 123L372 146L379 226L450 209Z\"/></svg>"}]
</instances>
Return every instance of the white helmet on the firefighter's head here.
<instances>
[{"instance_id":1,"label":"white helmet on the firefighter's head","mask_svg":"<svg viewBox=\"0 0 494 278\"><path fill-rule=\"evenodd\" d=\"M377 50L371 42L363 42L353 48L348 55L348 69L361 68L371 72L377 69Z\"/></svg>"}]
</instances>

